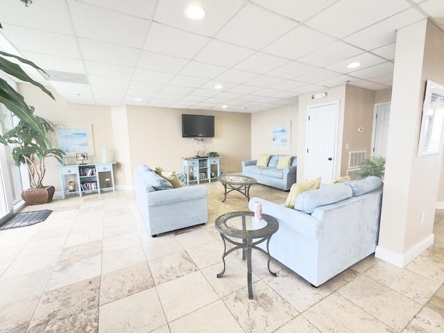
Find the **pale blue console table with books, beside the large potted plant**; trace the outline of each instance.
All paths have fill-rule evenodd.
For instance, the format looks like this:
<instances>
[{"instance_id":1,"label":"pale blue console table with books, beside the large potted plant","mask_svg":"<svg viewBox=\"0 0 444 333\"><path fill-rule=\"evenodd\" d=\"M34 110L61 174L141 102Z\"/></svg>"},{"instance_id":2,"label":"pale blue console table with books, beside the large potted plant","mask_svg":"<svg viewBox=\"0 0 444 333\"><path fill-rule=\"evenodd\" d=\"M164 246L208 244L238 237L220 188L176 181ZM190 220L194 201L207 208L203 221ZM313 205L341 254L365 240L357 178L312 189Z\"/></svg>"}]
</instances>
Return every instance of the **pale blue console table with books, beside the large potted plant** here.
<instances>
[{"instance_id":1,"label":"pale blue console table with books, beside the large potted plant","mask_svg":"<svg viewBox=\"0 0 444 333\"><path fill-rule=\"evenodd\" d=\"M112 190L114 185L113 164L117 162L95 164L73 164L59 167L62 198L67 194L78 194ZM74 182L74 189L69 189L69 182Z\"/></svg>"}]
</instances>

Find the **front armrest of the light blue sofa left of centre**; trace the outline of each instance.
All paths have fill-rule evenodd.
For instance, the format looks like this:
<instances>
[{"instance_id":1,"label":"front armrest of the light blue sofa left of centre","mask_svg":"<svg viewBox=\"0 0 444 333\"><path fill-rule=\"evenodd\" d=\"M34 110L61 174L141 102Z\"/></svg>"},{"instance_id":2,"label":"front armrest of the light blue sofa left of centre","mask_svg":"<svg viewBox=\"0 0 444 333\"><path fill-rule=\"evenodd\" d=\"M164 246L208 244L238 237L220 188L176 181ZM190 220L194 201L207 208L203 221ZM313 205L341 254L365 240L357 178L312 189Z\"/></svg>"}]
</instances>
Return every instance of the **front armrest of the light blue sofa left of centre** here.
<instances>
[{"instance_id":1,"label":"front armrest of the light blue sofa left of centre","mask_svg":"<svg viewBox=\"0 0 444 333\"><path fill-rule=\"evenodd\" d=\"M206 186L180 187L179 189L164 189L162 191L150 192L146 198L148 206L176 204L180 201L194 200L196 198L206 198Z\"/></svg>"}]
</instances>

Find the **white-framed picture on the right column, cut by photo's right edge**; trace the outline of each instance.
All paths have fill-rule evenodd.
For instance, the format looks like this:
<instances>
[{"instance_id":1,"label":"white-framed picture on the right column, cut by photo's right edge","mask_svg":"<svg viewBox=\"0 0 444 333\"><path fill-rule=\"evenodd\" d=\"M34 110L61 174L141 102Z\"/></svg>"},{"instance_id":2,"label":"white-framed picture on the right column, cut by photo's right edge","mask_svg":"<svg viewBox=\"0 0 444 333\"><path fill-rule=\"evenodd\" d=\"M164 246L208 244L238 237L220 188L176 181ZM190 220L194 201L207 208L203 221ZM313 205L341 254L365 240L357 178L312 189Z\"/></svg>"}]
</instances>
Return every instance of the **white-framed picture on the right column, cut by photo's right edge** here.
<instances>
[{"instance_id":1,"label":"white-framed picture on the right column, cut by photo's right edge","mask_svg":"<svg viewBox=\"0 0 444 333\"><path fill-rule=\"evenodd\" d=\"M422 106L418 157L440 153L443 148L444 85L427 80Z\"/></svg>"}]
</instances>

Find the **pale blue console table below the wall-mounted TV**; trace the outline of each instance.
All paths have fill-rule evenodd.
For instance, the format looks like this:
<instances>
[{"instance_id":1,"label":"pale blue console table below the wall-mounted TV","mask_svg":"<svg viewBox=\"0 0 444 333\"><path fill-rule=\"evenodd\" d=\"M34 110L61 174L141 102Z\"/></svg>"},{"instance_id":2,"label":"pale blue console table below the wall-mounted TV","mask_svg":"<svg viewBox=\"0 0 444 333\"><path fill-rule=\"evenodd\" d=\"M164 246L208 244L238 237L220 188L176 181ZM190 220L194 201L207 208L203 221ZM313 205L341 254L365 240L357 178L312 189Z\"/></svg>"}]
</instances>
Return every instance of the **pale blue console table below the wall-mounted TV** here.
<instances>
[{"instance_id":1,"label":"pale blue console table below the wall-mounted TV","mask_svg":"<svg viewBox=\"0 0 444 333\"><path fill-rule=\"evenodd\" d=\"M183 160L183 173L189 182L197 182L199 185L201 180L216 179L220 173L219 165L220 157L195 157Z\"/></svg>"}]
</instances>

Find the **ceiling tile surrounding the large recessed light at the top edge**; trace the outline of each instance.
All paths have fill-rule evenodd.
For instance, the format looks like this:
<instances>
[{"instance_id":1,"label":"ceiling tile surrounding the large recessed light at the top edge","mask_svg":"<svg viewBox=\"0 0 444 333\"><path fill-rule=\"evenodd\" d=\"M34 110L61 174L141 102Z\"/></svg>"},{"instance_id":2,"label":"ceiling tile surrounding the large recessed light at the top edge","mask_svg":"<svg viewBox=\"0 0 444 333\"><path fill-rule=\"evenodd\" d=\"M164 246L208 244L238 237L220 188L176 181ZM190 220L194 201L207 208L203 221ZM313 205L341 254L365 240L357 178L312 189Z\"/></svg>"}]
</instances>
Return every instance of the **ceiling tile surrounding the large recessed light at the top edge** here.
<instances>
[{"instance_id":1,"label":"ceiling tile surrounding the large recessed light at the top edge","mask_svg":"<svg viewBox=\"0 0 444 333\"><path fill-rule=\"evenodd\" d=\"M205 17L194 21L185 17L185 9L189 1L162 0L157 4L154 21L169 26L175 26L185 31L191 31L200 35L213 36L234 15L241 6L242 0L200 0L200 6L205 10Z\"/></svg>"}]
</instances>

